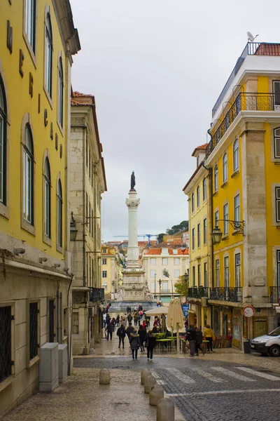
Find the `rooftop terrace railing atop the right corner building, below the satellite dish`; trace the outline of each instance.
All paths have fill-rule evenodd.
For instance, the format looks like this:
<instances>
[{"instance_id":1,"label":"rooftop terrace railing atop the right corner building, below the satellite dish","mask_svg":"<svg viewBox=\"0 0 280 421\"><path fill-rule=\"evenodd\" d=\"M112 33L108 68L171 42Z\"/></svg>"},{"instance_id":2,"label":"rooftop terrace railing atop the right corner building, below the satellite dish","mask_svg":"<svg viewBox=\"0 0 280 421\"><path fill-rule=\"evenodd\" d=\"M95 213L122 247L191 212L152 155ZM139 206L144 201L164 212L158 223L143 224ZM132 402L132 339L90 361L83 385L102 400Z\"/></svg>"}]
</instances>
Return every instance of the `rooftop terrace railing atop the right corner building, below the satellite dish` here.
<instances>
[{"instance_id":1,"label":"rooftop terrace railing atop the right corner building, below the satellite dish","mask_svg":"<svg viewBox=\"0 0 280 421\"><path fill-rule=\"evenodd\" d=\"M228 88L230 87L233 79L235 79L235 76L247 55L280 55L280 44L269 44L265 42L248 42L248 44L246 44L244 50L237 60L234 69L230 74L230 77L228 78L228 81L225 83L223 91L219 95L218 100L212 109L212 117L214 117L218 107L220 107L221 103L223 102L223 98L225 98L225 94L227 93Z\"/></svg>"}]
</instances>

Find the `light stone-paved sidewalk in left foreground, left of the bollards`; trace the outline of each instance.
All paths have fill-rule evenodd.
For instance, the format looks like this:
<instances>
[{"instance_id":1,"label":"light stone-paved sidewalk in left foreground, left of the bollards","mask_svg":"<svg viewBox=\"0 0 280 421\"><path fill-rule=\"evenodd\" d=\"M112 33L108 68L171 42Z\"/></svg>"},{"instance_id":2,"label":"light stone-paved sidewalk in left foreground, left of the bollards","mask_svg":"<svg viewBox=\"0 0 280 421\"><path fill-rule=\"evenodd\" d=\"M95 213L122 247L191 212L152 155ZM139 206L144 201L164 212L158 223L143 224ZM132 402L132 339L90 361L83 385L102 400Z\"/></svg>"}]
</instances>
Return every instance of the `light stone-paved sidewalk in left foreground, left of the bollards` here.
<instances>
[{"instance_id":1,"label":"light stone-paved sidewalk in left foreground, left of the bollards","mask_svg":"<svg viewBox=\"0 0 280 421\"><path fill-rule=\"evenodd\" d=\"M111 385L99 385L99 369L75 368L52 393L27 399L4 421L109 421L156 419L156 408L140 385L140 372L110 370Z\"/></svg>"}]
</instances>

